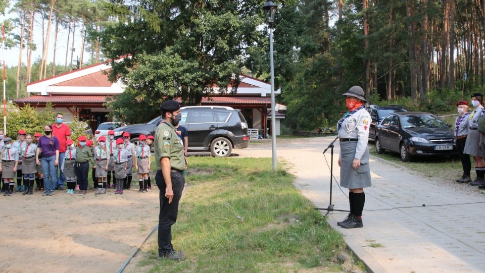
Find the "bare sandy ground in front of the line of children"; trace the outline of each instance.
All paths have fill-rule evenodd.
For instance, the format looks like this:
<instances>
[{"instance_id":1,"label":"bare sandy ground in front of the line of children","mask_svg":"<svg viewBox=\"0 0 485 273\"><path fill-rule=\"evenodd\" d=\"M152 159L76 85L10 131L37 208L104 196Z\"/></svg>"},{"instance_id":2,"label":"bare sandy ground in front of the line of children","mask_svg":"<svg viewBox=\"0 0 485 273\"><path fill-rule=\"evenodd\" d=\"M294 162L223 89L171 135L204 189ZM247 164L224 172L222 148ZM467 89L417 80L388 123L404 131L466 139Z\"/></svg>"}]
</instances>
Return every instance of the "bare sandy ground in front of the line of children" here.
<instances>
[{"instance_id":1,"label":"bare sandy ground in front of the line of children","mask_svg":"<svg viewBox=\"0 0 485 273\"><path fill-rule=\"evenodd\" d=\"M0 272L118 271L158 224L158 189L133 182L123 195L0 196Z\"/></svg>"}]
</instances>

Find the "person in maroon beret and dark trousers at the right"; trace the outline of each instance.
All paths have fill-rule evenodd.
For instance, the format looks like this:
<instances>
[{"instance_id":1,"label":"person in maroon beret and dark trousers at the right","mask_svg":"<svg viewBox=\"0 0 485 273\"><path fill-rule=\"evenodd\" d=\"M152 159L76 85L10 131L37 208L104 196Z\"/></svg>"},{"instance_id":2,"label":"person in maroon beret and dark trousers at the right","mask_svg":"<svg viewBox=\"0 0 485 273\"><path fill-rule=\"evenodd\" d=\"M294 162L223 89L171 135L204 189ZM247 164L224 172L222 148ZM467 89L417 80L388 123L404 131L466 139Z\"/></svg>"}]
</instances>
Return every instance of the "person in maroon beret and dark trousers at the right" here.
<instances>
[{"instance_id":1,"label":"person in maroon beret and dark trousers at the right","mask_svg":"<svg viewBox=\"0 0 485 273\"><path fill-rule=\"evenodd\" d=\"M456 103L458 107L458 114L460 114L455 120L455 140L456 149L458 150L458 156L461 160L461 165L463 166L463 175L460 179L457 179L457 183L468 183L471 182L470 170L471 162L470 155L463 153L465 149L466 138L468 136L468 101L458 101Z\"/></svg>"}]
</instances>

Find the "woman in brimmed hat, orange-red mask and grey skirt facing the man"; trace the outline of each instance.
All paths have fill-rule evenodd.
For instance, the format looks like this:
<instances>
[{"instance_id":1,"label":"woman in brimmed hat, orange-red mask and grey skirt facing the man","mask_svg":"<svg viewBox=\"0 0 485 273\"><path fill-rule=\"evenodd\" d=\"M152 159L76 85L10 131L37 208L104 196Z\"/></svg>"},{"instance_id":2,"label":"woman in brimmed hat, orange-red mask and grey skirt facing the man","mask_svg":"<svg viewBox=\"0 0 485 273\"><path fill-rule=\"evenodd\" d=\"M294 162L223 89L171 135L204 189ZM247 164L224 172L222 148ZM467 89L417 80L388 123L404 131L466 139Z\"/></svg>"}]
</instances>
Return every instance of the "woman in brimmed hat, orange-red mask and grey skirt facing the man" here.
<instances>
[{"instance_id":1,"label":"woman in brimmed hat, orange-red mask and grey skirt facing the man","mask_svg":"<svg viewBox=\"0 0 485 273\"><path fill-rule=\"evenodd\" d=\"M370 115L364 108L364 90L353 86L344 94L347 96L348 112L338 121L337 130L340 139L340 185L349 189L350 213L338 226L345 229L362 228L362 210L364 210L366 187L372 186L369 169Z\"/></svg>"}]
</instances>

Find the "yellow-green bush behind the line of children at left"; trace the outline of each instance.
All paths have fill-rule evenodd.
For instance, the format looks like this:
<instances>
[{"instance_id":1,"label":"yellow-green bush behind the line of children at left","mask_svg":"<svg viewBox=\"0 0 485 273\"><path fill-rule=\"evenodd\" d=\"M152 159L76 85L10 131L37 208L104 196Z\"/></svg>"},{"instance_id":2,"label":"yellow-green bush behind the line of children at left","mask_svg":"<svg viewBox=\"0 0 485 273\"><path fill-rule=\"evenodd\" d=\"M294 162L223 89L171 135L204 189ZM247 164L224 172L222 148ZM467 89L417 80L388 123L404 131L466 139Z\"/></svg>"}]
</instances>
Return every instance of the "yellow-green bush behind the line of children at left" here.
<instances>
[{"instance_id":1,"label":"yellow-green bush behind the line of children at left","mask_svg":"<svg viewBox=\"0 0 485 273\"><path fill-rule=\"evenodd\" d=\"M20 108L17 104L7 104L7 132L6 136L12 139L17 139L17 132L19 130L25 130L27 134L32 136L35 133L44 134L44 126L47 124L54 124L56 113L52 109L52 105L47 104L45 108L37 111L35 107L29 104ZM71 137L74 142L82 135L83 126L81 122L73 121L69 127L71 128ZM4 128L4 120L0 121L0 129Z\"/></svg>"}]
</instances>

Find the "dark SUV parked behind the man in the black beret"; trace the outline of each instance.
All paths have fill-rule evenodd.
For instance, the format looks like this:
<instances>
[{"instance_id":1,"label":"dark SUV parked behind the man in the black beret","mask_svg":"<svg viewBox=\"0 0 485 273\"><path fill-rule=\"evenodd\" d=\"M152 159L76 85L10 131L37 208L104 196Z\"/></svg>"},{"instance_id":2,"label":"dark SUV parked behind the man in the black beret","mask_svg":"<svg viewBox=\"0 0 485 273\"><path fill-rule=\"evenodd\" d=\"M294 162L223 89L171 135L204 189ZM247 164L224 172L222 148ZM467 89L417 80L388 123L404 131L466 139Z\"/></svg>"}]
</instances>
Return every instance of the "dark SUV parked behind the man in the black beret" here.
<instances>
[{"instance_id":1,"label":"dark SUV parked behind the man in the black beret","mask_svg":"<svg viewBox=\"0 0 485 273\"><path fill-rule=\"evenodd\" d=\"M226 106L185 106L180 108L180 126L188 131L188 151L210 151L215 157L229 156L233 148L249 145L248 123L239 110ZM140 135L155 135L162 117L147 123L115 129L115 138L130 133L131 142Z\"/></svg>"}]
</instances>

